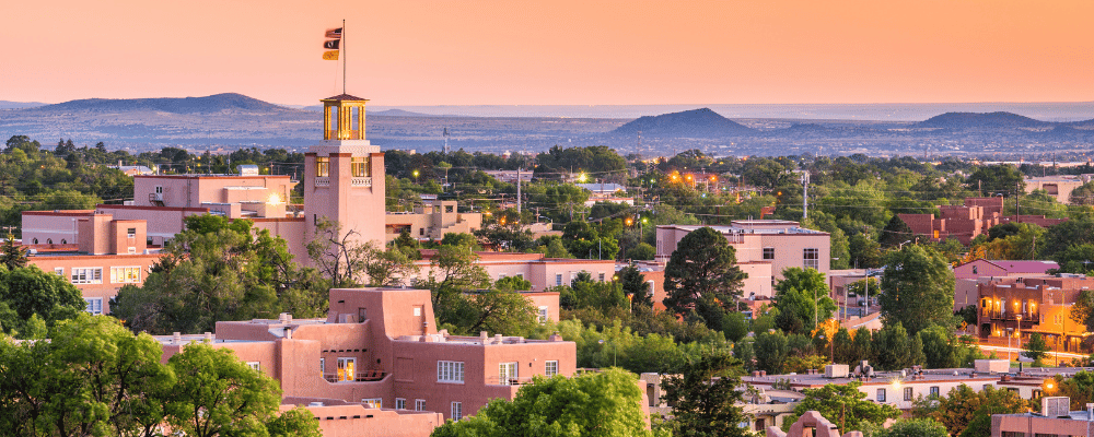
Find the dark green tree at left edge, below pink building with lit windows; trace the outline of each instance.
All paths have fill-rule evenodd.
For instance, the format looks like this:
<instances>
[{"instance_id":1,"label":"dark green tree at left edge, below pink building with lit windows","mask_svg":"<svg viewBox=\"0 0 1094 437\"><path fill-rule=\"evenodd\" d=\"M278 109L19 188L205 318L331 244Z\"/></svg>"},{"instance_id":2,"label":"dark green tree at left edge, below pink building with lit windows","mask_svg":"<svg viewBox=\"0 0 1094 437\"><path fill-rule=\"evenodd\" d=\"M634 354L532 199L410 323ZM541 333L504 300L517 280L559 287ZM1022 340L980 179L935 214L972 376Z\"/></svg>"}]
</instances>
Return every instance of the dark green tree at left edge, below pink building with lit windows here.
<instances>
[{"instance_id":1,"label":"dark green tree at left edge, below pink building with lit windows","mask_svg":"<svg viewBox=\"0 0 1094 437\"><path fill-rule=\"evenodd\" d=\"M0 267L0 329L12 335L26 333L35 316L51 326L75 317L86 308L80 290L65 277L36 265L8 270Z\"/></svg>"}]
</instances>

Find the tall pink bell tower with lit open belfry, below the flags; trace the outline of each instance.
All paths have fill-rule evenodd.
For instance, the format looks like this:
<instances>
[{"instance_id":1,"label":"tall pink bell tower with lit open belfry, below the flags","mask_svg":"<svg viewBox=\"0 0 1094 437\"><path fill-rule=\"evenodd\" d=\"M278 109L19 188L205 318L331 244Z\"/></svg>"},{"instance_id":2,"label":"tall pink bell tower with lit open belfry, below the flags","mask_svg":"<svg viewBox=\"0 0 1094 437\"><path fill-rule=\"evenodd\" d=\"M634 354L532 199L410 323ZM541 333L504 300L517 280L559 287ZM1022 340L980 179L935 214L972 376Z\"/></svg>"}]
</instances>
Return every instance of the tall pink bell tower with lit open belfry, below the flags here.
<instances>
[{"instance_id":1,"label":"tall pink bell tower with lit open belfry, below the flags","mask_svg":"<svg viewBox=\"0 0 1094 437\"><path fill-rule=\"evenodd\" d=\"M338 222L341 234L383 246L384 154L365 139L368 99L340 94L323 101L323 142L304 154L305 240L321 218Z\"/></svg>"}]
</instances>

